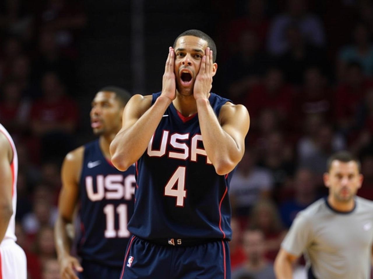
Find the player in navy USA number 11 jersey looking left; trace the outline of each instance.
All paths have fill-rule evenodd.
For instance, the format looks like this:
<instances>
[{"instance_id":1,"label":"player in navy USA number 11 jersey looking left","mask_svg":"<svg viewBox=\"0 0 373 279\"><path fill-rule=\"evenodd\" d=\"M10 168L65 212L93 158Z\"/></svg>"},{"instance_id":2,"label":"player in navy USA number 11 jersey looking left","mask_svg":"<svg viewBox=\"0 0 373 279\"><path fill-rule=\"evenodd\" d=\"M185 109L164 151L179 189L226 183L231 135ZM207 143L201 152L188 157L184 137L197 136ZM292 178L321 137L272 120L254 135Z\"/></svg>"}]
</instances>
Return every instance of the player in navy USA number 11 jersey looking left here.
<instances>
[{"instance_id":1,"label":"player in navy USA number 11 jersey looking left","mask_svg":"<svg viewBox=\"0 0 373 279\"><path fill-rule=\"evenodd\" d=\"M118 279L130 233L133 212L134 166L117 170L111 163L109 145L122 126L123 108L131 96L118 87L101 89L92 101L91 127L98 140L81 146L65 157L62 190L55 225L56 250L63 279ZM81 238L78 259L70 255L71 239L66 225L80 205Z\"/></svg>"}]
</instances>

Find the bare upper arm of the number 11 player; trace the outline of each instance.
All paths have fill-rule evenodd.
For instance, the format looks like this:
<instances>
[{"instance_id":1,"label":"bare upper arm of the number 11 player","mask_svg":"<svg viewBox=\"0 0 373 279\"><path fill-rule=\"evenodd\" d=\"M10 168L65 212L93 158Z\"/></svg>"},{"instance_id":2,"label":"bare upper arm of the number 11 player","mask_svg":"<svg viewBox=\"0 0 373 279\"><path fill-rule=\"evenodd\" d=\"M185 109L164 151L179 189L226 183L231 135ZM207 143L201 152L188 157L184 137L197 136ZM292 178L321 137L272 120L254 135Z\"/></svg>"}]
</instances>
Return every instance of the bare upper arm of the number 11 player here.
<instances>
[{"instance_id":1,"label":"bare upper arm of the number 11 player","mask_svg":"<svg viewBox=\"0 0 373 279\"><path fill-rule=\"evenodd\" d=\"M83 150L75 150L66 155L62 164L62 189L59 195L59 214L71 222L79 196L79 176Z\"/></svg>"}]
</instances>

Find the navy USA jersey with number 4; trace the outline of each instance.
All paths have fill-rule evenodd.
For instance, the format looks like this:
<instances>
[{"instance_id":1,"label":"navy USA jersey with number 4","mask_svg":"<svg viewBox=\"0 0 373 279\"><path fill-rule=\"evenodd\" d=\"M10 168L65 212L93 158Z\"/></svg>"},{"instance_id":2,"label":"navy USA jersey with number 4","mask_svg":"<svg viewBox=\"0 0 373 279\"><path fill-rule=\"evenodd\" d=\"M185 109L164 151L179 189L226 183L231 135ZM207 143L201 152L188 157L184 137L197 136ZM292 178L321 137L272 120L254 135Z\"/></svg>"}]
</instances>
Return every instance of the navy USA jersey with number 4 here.
<instances>
[{"instance_id":1,"label":"navy USA jersey with number 4","mask_svg":"<svg viewBox=\"0 0 373 279\"><path fill-rule=\"evenodd\" d=\"M153 94L154 104L160 93ZM229 102L209 97L218 116ZM216 148L220 148L217 146ZM147 150L136 164L137 187L129 230L144 239L226 238L232 235L229 182L218 175L203 147L198 115L167 108Z\"/></svg>"}]
</instances>

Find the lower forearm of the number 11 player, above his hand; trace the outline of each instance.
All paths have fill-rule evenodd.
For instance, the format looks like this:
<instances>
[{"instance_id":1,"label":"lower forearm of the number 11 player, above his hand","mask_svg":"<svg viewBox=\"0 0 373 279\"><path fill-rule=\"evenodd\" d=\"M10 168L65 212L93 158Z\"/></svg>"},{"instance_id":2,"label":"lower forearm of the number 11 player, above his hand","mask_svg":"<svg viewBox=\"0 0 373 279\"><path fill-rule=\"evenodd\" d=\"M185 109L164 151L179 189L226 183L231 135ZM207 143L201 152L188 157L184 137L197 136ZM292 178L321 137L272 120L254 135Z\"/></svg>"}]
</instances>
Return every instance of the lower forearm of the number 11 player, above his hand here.
<instances>
[{"instance_id":1,"label":"lower forearm of the number 11 player, above his hand","mask_svg":"<svg viewBox=\"0 0 373 279\"><path fill-rule=\"evenodd\" d=\"M72 240L66 231L67 224L68 223L60 215L58 215L54 225L54 241L56 243L58 259L70 255Z\"/></svg>"}]
</instances>

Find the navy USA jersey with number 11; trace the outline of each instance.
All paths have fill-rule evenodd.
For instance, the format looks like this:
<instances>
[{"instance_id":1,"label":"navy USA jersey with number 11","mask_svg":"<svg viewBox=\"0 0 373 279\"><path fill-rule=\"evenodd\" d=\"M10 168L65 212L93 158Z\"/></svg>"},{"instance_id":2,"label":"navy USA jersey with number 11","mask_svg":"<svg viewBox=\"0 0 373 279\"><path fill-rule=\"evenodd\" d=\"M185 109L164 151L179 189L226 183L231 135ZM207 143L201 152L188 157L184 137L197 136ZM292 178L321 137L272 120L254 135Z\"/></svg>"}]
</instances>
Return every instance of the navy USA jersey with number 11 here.
<instances>
[{"instance_id":1,"label":"navy USA jersey with number 11","mask_svg":"<svg viewBox=\"0 0 373 279\"><path fill-rule=\"evenodd\" d=\"M104 157L98 140L84 145L80 179L81 238L78 253L84 260L122 266L133 213L135 167L117 170Z\"/></svg>"}]
</instances>

